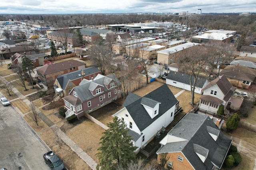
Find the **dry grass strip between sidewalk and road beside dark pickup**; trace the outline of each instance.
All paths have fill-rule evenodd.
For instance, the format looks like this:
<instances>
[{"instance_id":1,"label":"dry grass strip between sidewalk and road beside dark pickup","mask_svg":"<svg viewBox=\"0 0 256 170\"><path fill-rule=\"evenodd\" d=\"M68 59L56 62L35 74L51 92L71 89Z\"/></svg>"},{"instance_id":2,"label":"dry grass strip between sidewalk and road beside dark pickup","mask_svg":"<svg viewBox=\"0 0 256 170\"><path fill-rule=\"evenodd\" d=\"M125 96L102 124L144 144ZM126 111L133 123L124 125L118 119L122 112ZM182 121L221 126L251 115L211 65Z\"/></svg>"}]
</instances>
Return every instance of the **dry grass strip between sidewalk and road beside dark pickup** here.
<instances>
[{"instance_id":1,"label":"dry grass strip between sidewalk and road beside dark pickup","mask_svg":"<svg viewBox=\"0 0 256 170\"><path fill-rule=\"evenodd\" d=\"M52 129L46 129L40 133L44 142L63 160L69 170L91 170L91 168L79 156L70 149L62 140L60 146L57 142L57 136Z\"/></svg>"}]
</instances>

